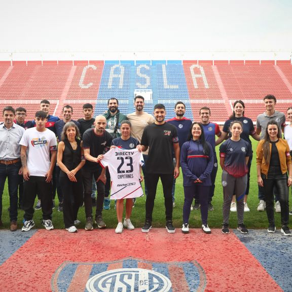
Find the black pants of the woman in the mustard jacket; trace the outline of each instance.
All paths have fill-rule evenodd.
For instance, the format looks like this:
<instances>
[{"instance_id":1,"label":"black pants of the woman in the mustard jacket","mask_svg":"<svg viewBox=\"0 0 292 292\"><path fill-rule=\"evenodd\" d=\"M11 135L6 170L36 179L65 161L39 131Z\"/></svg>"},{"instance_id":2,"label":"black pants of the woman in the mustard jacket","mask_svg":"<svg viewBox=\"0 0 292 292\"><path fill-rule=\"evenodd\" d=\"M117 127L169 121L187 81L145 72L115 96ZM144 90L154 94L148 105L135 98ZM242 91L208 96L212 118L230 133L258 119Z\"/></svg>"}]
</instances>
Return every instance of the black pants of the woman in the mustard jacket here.
<instances>
[{"instance_id":1,"label":"black pants of the woman in the mustard jacket","mask_svg":"<svg viewBox=\"0 0 292 292\"><path fill-rule=\"evenodd\" d=\"M269 224L275 225L274 218L274 187L279 196L281 205L281 223L289 224L289 189L287 186L287 173L282 174L280 167L270 166L268 175L262 174L266 211Z\"/></svg>"}]
</instances>

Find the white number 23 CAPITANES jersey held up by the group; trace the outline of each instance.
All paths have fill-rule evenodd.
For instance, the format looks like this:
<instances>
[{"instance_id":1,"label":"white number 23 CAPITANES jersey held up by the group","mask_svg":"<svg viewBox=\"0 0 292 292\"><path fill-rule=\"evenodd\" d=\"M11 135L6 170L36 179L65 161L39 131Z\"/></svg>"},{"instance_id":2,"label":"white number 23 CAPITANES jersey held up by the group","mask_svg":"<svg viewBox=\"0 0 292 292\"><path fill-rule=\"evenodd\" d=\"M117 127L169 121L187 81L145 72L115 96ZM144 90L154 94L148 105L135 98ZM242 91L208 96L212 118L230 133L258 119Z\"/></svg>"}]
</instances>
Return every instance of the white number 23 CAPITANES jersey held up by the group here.
<instances>
[{"instance_id":1,"label":"white number 23 CAPITANES jersey held up by the group","mask_svg":"<svg viewBox=\"0 0 292 292\"><path fill-rule=\"evenodd\" d=\"M143 156L137 149L112 148L100 162L111 174L111 199L129 199L143 196L140 184L140 165Z\"/></svg>"}]
</instances>

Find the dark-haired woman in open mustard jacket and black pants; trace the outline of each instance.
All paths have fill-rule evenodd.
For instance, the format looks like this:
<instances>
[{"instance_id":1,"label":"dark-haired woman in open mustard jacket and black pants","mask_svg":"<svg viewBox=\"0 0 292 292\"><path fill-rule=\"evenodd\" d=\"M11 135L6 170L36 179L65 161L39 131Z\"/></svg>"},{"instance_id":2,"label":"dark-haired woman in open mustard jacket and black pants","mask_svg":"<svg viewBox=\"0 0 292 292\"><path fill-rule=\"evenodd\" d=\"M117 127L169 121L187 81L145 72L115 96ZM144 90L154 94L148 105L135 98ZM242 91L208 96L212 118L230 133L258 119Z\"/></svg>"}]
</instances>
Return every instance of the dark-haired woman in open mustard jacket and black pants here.
<instances>
[{"instance_id":1,"label":"dark-haired woman in open mustard jacket and black pants","mask_svg":"<svg viewBox=\"0 0 292 292\"><path fill-rule=\"evenodd\" d=\"M257 147L258 184L264 187L269 233L275 233L276 231L273 190L274 186L277 188L281 205L281 232L285 236L291 236L288 228L288 187L292 184L292 164L289 151L288 143L281 138L277 123L275 121L269 122L266 136ZM287 170L289 176L287 176Z\"/></svg>"}]
</instances>

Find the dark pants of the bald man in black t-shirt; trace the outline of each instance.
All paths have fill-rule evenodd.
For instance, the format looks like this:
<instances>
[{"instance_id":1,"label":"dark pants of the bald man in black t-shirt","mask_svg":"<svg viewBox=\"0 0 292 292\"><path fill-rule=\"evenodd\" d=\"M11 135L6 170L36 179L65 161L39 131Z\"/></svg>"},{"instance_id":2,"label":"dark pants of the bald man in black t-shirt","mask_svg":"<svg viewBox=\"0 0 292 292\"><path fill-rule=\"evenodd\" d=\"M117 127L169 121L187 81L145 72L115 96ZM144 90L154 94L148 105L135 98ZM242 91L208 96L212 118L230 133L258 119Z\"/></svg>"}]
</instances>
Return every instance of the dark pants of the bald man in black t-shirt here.
<instances>
[{"instance_id":1,"label":"dark pants of the bald man in black t-shirt","mask_svg":"<svg viewBox=\"0 0 292 292\"><path fill-rule=\"evenodd\" d=\"M92 200L91 200L91 193L92 193L92 176L94 176L95 180L101 174L101 169L99 170L89 170L84 168L83 169L83 186L84 186L84 206L85 206L85 216L92 217ZM103 200L104 200L104 184L102 181L96 182L96 190L97 190L97 197L96 197L96 213L95 217L102 214L103 208Z\"/></svg>"}]
</instances>

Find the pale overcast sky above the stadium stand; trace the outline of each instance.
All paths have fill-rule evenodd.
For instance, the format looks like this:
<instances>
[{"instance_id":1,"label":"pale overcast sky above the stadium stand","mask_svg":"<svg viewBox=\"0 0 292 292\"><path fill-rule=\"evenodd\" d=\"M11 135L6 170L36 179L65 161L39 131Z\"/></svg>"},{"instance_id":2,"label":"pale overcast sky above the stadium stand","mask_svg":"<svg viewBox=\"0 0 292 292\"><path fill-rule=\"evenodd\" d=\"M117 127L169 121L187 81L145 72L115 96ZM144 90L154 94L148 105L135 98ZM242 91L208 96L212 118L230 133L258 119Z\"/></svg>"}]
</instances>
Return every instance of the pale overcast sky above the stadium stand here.
<instances>
[{"instance_id":1,"label":"pale overcast sky above the stadium stand","mask_svg":"<svg viewBox=\"0 0 292 292\"><path fill-rule=\"evenodd\" d=\"M292 50L291 0L7 0L0 50Z\"/></svg>"}]
</instances>

